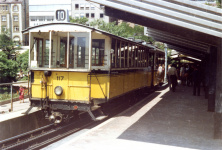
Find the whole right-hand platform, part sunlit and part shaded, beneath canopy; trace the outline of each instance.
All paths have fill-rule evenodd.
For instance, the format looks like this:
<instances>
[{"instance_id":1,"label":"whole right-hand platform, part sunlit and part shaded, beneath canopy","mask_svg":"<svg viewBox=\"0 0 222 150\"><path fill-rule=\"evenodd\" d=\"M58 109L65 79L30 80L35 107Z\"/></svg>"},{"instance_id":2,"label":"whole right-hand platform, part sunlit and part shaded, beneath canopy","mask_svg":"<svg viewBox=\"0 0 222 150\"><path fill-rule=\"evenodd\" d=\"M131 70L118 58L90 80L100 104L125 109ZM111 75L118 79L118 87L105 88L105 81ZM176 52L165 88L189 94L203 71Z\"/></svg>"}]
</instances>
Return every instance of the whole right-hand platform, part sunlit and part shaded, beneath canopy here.
<instances>
[{"instance_id":1,"label":"whole right-hand platform, part sunlit and part shaded, beneath canopy","mask_svg":"<svg viewBox=\"0 0 222 150\"><path fill-rule=\"evenodd\" d=\"M156 91L104 123L73 134L44 150L221 150L213 139L213 113L204 93L179 85Z\"/></svg>"}]
</instances>

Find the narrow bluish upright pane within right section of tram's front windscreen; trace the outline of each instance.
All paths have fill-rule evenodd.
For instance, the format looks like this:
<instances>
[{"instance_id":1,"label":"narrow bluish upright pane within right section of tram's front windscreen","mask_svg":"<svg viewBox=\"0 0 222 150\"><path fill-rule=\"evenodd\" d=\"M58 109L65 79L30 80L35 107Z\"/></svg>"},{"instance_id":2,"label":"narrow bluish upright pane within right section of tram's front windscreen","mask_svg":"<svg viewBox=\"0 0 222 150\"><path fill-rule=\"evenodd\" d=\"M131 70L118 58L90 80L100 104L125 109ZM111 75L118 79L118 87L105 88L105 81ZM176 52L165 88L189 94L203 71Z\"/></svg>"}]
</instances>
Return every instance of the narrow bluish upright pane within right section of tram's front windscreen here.
<instances>
[{"instance_id":1,"label":"narrow bluish upright pane within right section of tram's front windscreen","mask_svg":"<svg viewBox=\"0 0 222 150\"><path fill-rule=\"evenodd\" d=\"M85 67L86 38L77 38L77 67Z\"/></svg>"}]
</instances>

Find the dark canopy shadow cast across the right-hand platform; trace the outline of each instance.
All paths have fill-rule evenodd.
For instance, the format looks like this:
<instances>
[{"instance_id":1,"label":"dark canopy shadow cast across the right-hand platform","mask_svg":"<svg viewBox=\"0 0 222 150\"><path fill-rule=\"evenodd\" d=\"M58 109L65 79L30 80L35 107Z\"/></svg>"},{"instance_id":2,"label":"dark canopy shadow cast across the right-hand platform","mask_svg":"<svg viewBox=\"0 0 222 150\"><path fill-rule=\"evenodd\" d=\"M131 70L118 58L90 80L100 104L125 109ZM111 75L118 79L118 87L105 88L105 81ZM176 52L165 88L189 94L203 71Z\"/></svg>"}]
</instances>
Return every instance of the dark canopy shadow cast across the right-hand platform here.
<instances>
[{"instance_id":1,"label":"dark canopy shadow cast across the right-hand platform","mask_svg":"<svg viewBox=\"0 0 222 150\"><path fill-rule=\"evenodd\" d=\"M142 112L144 114L118 139L191 149L221 150L221 140L213 139L213 113L207 111L204 93L193 96L192 87L182 85L177 87L176 92L171 92L168 88L165 90L164 95L160 96L160 92L156 91L146 101L124 113L130 117ZM151 108L147 109L148 107ZM147 111L139 113L140 109Z\"/></svg>"}]
</instances>

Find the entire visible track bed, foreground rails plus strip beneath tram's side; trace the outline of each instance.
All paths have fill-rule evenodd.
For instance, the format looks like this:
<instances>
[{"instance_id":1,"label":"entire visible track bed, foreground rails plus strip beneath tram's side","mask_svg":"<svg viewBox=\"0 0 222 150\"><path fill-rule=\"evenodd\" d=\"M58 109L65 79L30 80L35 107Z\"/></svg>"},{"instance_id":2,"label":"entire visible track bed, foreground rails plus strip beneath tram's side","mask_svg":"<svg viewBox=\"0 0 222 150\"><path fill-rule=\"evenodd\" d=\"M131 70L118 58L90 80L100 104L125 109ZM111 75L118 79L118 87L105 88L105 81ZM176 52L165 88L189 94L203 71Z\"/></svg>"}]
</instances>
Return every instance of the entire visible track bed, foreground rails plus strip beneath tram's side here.
<instances>
[{"instance_id":1,"label":"entire visible track bed, foreground rails plus strip beneath tram's side","mask_svg":"<svg viewBox=\"0 0 222 150\"><path fill-rule=\"evenodd\" d=\"M110 105L104 108L105 113L109 114L109 117L113 117L120 112L126 110L132 105L136 104L142 98L147 96L148 93L144 94L140 98L137 98L137 101L117 101L116 103L111 103ZM120 105L121 103L121 105ZM107 109L109 108L109 109ZM107 119L108 119L107 118ZM105 119L105 120L107 120ZM70 119L71 120L71 119ZM62 138L65 138L71 134L74 134L84 128L95 126L103 121L92 121L88 114L83 113L80 117L73 119L74 121L59 125L50 124L39 129L17 135L15 137L0 141L0 148L2 150L11 150L11 149L29 149L37 150L47 145L54 143Z\"/></svg>"}]
</instances>

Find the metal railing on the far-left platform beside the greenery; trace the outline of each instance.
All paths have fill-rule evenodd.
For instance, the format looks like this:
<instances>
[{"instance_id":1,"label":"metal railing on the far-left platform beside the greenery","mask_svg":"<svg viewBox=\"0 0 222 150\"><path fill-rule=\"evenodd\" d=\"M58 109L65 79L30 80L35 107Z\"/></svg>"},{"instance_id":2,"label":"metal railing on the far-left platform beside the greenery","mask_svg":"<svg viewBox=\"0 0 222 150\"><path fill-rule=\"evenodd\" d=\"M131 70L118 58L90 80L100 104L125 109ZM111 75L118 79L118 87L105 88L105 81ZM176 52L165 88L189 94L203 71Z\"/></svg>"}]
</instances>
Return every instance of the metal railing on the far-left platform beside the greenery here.
<instances>
[{"instance_id":1,"label":"metal railing on the far-left platform beside the greenery","mask_svg":"<svg viewBox=\"0 0 222 150\"><path fill-rule=\"evenodd\" d=\"M22 83L27 83L27 88L28 88L28 92L27 92L27 94L28 94L28 96L29 96L29 82L28 81L19 81L19 82L12 82L12 83L1 83L0 84L0 95L1 95L1 99L2 99L2 95L4 95L5 93L3 93L3 91L5 91L5 89L4 88L9 88L9 86L10 86L10 90L9 89L7 89L6 91L10 91L10 94L8 94L9 92L7 92L7 94L8 95L11 95L10 96L10 99L11 99L11 111L13 111L13 85L15 86L15 85L21 85ZM4 86L4 87L3 87ZM7 96L6 96L6 99L5 100L2 100L3 102L4 101L6 101L7 100Z\"/></svg>"}]
</instances>

